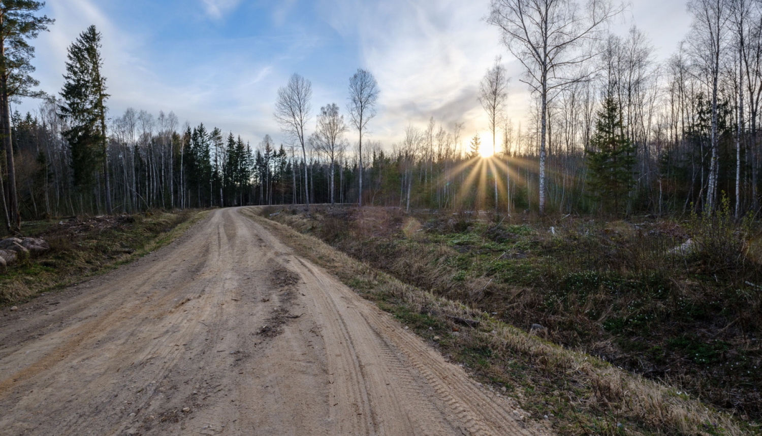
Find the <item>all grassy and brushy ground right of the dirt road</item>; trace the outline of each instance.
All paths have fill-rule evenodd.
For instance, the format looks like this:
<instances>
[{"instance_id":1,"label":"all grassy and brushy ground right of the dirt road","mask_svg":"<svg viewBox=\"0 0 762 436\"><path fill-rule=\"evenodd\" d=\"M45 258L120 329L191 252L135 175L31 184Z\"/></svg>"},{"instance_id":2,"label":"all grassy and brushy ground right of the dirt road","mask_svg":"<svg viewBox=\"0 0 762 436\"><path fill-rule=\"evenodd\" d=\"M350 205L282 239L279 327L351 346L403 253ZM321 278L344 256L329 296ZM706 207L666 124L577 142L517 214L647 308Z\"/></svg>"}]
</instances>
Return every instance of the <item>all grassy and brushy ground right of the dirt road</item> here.
<instances>
[{"instance_id":1,"label":"all grassy and brushy ground right of the dirt road","mask_svg":"<svg viewBox=\"0 0 762 436\"><path fill-rule=\"evenodd\" d=\"M560 434L760 434L758 223L260 212ZM324 242L348 256L313 248Z\"/></svg>"}]
</instances>

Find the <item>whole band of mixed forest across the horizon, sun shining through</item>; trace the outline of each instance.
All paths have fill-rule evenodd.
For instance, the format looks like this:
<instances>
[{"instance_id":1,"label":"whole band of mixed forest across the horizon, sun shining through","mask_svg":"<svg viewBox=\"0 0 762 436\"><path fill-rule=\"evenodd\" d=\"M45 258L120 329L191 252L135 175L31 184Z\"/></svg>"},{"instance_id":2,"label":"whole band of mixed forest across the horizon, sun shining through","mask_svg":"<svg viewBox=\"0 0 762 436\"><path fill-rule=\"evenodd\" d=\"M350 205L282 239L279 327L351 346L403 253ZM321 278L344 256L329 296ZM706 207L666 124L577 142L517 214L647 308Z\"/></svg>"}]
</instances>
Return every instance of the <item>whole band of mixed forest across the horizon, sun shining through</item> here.
<instances>
[{"instance_id":1,"label":"whole band of mixed forest across the horizon, sun shining through","mask_svg":"<svg viewBox=\"0 0 762 436\"><path fill-rule=\"evenodd\" d=\"M431 117L392 144L373 140L383 89L363 68L320 110L294 74L274 102L283 143L181 125L172 112L111 113L94 26L69 46L60 93L34 91L31 43L54 25L34 15L41 5L0 11L9 230L58 216L334 202L626 216L711 213L724 199L736 218L760 208L760 2L692 0L690 33L658 62L642 30L615 32L623 5L493 0L485 25L524 74L508 78L501 57L485 72L473 98L489 135ZM520 122L506 115L509 80L532 91ZM21 97L39 97L39 109L11 111Z\"/></svg>"}]
</instances>

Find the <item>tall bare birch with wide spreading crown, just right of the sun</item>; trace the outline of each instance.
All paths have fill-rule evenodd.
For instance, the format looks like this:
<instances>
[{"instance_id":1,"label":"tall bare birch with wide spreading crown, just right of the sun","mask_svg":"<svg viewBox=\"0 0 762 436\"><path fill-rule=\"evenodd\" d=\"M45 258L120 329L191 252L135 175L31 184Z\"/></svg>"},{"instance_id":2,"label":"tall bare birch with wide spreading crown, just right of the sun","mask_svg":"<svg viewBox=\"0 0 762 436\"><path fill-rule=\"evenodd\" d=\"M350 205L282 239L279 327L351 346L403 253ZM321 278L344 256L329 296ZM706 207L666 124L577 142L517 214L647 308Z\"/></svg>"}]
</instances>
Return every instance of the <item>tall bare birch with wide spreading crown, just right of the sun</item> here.
<instances>
[{"instance_id":1,"label":"tall bare birch with wide spreading crown, just right of the sun","mask_svg":"<svg viewBox=\"0 0 762 436\"><path fill-rule=\"evenodd\" d=\"M539 212L545 212L545 160L551 93L581 81L574 74L594 54L585 43L597 40L602 24L623 8L610 0L590 0L581 14L575 0L491 0L488 23L500 27L503 43L525 68L522 81L539 94ZM589 73L588 73L589 74Z\"/></svg>"}]
</instances>

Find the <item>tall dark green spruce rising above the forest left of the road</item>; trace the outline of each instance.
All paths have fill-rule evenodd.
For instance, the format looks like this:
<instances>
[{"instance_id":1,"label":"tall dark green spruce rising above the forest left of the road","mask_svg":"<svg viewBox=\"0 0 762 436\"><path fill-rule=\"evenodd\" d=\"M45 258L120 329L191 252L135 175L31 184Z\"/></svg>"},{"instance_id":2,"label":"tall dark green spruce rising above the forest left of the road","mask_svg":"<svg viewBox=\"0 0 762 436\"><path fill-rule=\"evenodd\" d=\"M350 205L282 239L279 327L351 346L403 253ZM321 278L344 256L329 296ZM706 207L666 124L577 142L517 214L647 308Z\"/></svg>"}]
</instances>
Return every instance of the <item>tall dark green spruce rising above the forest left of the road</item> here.
<instances>
[{"instance_id":1,"label":"tall dark green spruce rising above the forest left of the road","mask_svg":"<svg viewBox=\"0 0 762 436\"><path fill-rule=\"evenodd\" d=\"M86 189L94 183L94 168L101 165L105 182L106 213L111 214L106 136L106 78L101 75L101 33L95 26L80 33L69 46L66 83L61 97L61 116L69 121L63 137L72 151L75 186Z\"/></svg>"}]
</instances>

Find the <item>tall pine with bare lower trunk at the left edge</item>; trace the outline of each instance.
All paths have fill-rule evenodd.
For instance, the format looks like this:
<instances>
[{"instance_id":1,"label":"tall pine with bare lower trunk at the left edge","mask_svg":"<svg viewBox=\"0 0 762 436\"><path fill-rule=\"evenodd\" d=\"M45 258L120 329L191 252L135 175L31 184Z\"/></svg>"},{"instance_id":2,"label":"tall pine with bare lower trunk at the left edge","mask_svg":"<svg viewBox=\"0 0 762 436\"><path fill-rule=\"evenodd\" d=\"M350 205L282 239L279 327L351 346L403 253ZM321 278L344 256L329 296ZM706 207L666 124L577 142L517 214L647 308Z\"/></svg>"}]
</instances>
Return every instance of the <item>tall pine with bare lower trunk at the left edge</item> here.
<instances>
[{"instance_id":1,"label":"tall pine with bare lower trunk at the left edge","mask_svg":"<svg viewBox=\"0 0 762 436\"><path fill-rule=\"evenodd\" d=\"M8 167L8 204L3 198L8 229L21 230L21 215L18 212L18 193L11 141L11 99L14 97L40 97L43 93L32 91L39 82L30 74L34 72L31 59L34 47L29 40L47 30L53 20L45 15L37 17L44 2L33 0L3 0L0 2L0 135L5 146ZM5 192L0 175L0 192ZM3 196L5 197L5 196Z\"/></svg>"}]
</instances>

